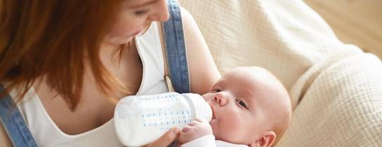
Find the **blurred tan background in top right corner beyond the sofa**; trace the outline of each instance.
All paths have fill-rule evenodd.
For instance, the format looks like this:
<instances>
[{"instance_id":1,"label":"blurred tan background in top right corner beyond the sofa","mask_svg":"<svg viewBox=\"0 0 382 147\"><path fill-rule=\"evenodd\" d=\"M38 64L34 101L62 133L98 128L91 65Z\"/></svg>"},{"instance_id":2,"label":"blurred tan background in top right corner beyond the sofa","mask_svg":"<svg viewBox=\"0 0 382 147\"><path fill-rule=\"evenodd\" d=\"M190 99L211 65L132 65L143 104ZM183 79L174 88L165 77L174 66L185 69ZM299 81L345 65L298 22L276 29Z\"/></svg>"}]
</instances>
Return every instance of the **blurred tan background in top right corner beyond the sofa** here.
<instances>
[{"instance_id":1,"label":"blurred tan background in top right corner beyond the sofa","mask_svg":"<svg viewBox=\"0 0 382 147\"><path fill-rule=\"evenodd\" d=\"M344 43L382 58L381 0L304 0L320 13Z\"/></svg>"}]
</instances>

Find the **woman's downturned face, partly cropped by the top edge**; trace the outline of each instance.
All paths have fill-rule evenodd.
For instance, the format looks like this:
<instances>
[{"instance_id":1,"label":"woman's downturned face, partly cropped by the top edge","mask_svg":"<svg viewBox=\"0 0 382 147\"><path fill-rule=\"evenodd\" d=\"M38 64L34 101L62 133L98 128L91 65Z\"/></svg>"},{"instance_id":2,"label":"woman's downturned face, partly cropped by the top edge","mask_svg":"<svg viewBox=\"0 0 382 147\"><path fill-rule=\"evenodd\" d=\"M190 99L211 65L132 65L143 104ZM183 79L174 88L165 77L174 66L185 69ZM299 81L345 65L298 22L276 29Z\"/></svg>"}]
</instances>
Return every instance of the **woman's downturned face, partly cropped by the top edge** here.
<instances>
[{"instance_id":1,"label":"woman's downturned face, partly cropped by the top edge","mask_svg":"<svg viewBox=\"0 0 382 147\"><path fill-rule=\"evenodd\" d=\"M166 0L124 0L106 42L121 45L131 41L148 23L164 22L169 19Z\"/></svg>"}]
</instances>

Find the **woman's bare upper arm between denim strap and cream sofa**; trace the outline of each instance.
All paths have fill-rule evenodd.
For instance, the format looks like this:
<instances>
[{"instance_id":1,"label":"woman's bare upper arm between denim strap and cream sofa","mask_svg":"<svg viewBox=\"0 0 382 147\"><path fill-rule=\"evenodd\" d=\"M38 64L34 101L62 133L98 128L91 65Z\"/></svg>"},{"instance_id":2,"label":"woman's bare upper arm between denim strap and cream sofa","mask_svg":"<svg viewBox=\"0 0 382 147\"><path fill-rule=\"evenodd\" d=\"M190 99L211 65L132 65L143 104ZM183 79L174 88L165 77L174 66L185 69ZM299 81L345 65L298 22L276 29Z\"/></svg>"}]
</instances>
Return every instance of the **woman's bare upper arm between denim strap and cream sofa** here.
<instances>
[{"instance_id":1,"label":"woman's bare upper arm between denim strap and cream sofa","mask_svg":"<svg viewBox=\"0 0 382 147\"><path fill-rule=\"evenodd\" d=\"M185 31L188 64L190 69L191 91L204 94L220 78L220 73L204 41L202 32L197 27L192 15L184 8L180 9Z\"/></svg>"}]
</instances>

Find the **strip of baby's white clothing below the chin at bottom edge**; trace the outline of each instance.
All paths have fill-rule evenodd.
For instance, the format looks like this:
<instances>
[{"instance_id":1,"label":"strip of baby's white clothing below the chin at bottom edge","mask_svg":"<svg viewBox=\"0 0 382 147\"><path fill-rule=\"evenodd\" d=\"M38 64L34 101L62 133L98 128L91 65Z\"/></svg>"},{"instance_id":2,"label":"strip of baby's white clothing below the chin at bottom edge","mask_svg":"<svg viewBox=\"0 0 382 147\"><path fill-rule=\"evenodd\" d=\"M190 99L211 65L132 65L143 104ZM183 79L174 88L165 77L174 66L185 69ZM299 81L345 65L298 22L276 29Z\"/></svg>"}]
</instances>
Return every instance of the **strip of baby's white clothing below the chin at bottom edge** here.
<instances>
[{"instance_id":1,"label":"strip of baby's white clothing below the chin at bottom edge","mask_svg":"<svg viewBox=\"0 0 382 147\"><path fill-rule=\"evenodd\" d=\"M215 140L215 137L213 135L206 135L204 137L199 137L185 144L182 144L180 147L248 147L248 146Z\"/></svg>"}]
</instances>

